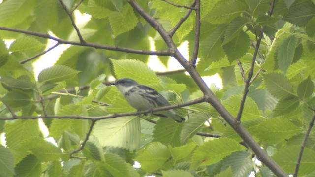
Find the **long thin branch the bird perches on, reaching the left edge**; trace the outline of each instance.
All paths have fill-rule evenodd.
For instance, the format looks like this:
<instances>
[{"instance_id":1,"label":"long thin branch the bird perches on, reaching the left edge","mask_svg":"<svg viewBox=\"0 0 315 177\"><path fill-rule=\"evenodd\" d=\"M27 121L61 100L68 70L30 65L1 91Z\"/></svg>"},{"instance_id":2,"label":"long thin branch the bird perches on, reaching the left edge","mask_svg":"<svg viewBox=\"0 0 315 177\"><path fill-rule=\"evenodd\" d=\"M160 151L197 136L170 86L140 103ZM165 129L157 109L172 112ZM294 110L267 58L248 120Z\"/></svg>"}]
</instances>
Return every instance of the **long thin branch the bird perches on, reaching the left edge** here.
<instances>
[{"instance_id":1,"label":"long thin branch the bird perches on, reaching the left edge","mask_svg":"<svg viewBox=\"0 0 315 177\"><path fill-rule=\"evenodd\" d=\"M164 110L170 110L174 108L180 108L184 106L189 106L197 103L201 103L205 101L205 97L200 97L191 101L187 101L185 103L180 103L176 105L170 105L170 106L163 106L163 107L158 107L154 108L152 110L146 110L146 111L136 111L136 112L128 112L128 113L114 113L111 115L107 116L80 116L80 115L47 115L47 116L16 116L16 117L0 117L0 120L14 120L14 119L39 119L39 118L70 118L70 119L88 119L88 120L102 120L102 119L109 119L109 118L118 118L118 117L123 117L123 116L137 116L139 114L147 114L147 113L152 113L152 112L158 112L158 111L164 111Z\"/></svg>"}]
</instances>

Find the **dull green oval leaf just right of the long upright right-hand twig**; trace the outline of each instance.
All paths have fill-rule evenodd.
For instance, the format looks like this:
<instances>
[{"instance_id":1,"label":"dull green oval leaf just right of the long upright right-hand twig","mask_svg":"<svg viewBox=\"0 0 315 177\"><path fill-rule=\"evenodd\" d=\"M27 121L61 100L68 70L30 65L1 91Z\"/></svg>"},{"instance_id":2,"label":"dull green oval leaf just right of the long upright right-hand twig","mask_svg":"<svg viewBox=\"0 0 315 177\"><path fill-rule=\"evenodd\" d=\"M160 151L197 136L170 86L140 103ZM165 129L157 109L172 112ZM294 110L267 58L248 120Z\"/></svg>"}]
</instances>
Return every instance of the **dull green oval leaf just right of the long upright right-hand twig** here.
<instances>
[{"instance_id":1,"label":"dull green oval leaf just right of the long upright right-hand twig","mask_svg":"<svg viewBox=\"0 0 315 177\"><path fill-rule=\"evenodd\" d=\"M268 73L263 75L268 91L278 99L294 96L293 86L281 73Z\"/></svg>"}]
</instances>

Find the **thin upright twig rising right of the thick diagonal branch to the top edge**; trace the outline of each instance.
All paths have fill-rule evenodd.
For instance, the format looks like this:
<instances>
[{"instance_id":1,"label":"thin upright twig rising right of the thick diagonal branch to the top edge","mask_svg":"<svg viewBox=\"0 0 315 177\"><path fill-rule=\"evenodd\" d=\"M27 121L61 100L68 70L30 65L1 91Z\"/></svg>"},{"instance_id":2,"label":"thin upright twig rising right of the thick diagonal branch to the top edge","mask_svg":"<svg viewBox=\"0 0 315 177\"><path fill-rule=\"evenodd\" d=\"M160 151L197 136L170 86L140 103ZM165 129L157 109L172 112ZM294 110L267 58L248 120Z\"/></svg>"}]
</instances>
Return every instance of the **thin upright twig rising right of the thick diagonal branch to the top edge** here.
<instances>
[{"instance_id":1,"label":"thin upright twig rising right of the thick diagonal branch to the top edge","mask_svg":"<svg viewBox=\"0 0 315 177\"><path fill-rule=\"evenodd\" d=\"M269 16L271 16L274 7L275 7L275 0L273 0L271 2L270 8L268 10L268 15ZM251 82L251 79L252 79L253 70L254 70L254 67L255 67L255 62L256 62L258 51L259 51L259 46L260 46L261 39L263 37L265 29L266 29L266 26L264 26L261 29L259 37L256 35L256 40L257 40L256 47L255 47L254 54L252 56L251 68L250 68L250 71L248 73L248 77L247 77L246 82L245 82L244 93L243 93L243 97L242 97L242 100L241 100L240 108L239 108L239 110L237 112L237 116L236 116L236 120L237 121L240 121L241 117L242 117L242 112L243 112L243 109L244 109L244 104L245 104L245 100L246 100L246 97L247 97L248 89L250 87L250 82Z\"/></svg>"}]
</instances>

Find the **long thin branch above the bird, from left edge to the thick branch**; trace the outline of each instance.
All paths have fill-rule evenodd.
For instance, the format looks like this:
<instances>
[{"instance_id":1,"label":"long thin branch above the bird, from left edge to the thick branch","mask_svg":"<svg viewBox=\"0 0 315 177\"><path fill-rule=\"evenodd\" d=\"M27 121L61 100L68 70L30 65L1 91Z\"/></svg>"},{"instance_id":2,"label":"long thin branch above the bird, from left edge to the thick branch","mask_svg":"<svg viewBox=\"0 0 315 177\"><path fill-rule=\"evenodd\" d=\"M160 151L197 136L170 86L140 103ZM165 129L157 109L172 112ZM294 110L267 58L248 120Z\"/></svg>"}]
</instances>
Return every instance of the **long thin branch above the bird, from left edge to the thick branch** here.
<instances>
[{"instance_id":1,"label":"long thin branch above the bird, from left edge to the thick branch","mask_svg":"<svg viewBox=\"0 0 315 177\"><path fill-rule=\"evenodd\" d=\"M111 51L120 51L120 52L142 54L142 55L156 55L156 56L170 56L171 55L171 52L169 50L164 50L164 51L137 50L137 49L130 49L130 48L124 48L124 47L118 47L118 46L108 46L108 45L102 45L102 44L90 43L90 42L86 42L85 44L82 44L76 41L60 39L60 38L51 36L48 33L43 33L43 32L34 32L34 31L28 31L28 30L23 30L23 29L13 29L13 28L7 28L7 27L0 27L0 30L19 32L19 33L33 35L33 36L37 36L37 37L41 37L45 39L52 39L56 42L59 42L60 44L93 47L95 49L105 49L105 50L111 50Z\"/></svg>"}]
</instances>

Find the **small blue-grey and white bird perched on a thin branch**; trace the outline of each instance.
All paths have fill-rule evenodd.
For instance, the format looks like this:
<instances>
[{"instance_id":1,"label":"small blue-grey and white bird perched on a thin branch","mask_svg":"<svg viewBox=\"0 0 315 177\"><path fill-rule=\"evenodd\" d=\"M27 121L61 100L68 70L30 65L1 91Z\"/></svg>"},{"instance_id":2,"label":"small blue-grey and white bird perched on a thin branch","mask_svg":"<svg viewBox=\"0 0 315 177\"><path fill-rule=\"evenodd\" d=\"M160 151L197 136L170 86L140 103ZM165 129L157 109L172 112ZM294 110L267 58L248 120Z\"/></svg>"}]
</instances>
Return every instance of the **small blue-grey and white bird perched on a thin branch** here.
<instances>
[{"instance_id":1,"label":"small blue-grey and white bird perched on a thin branch","mask_svg":"<svg viewBox=\"0 0 315 177\"><path fill-rule=\"evenodd\" d=\"M169 106L169 102L155 89L140 85L129 78L118 79L111 83L125 96L127 102L138 111L150 110L157 107ZM177 122L182 122L185 118L178 116L173 110L158 111L157 116L170 117Z\"/></svg>"}]
</instances>

